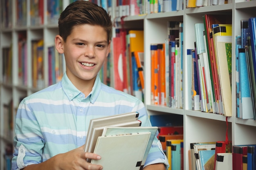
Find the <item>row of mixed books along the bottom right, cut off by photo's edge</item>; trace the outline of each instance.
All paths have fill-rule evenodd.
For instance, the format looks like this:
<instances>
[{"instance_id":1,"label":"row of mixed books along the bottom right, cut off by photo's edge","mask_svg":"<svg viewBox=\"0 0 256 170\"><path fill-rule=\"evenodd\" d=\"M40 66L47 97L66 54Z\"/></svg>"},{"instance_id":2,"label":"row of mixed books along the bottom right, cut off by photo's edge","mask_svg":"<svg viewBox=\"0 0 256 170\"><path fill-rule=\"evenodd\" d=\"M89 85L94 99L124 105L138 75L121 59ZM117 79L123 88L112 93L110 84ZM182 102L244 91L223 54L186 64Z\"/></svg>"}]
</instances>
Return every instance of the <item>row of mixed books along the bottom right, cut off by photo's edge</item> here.
<instances>
[{"instance_id":1,"label":"row of mixed books along the bottom right, cut off by photo's edge","mask_svg":"<svg viewBox=\"0 0 256 170\"><path fill-rule=\"evenodd\" d=\"M231 141L191 143L190 170L254 170L256 145L232 145Z\"/></svg>"}]
</instances>

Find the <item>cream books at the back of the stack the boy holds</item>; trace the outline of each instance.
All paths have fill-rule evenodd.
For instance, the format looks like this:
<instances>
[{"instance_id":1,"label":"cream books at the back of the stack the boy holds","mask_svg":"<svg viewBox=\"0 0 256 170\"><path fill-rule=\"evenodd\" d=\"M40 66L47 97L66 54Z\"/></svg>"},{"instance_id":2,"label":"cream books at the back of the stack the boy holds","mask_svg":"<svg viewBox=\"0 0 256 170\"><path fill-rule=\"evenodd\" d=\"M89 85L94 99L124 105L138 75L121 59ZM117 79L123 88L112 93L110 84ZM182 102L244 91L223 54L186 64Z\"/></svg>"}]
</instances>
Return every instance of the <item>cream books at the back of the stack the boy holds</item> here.
<instances>
[{"instance_id":1,"label":"cream books at the back of the stack the boy holds","mask_svg":"<svg viewBox=\"0 0 256 170\"><path fill-rule=\"evenodd\" d=\"M93 152L92 147L96 145L95 141L97 137L99 137L99 135L102 134L100 132L102 130L100 127L111 126L111 125L124 126L124 123L127 124L130 121L137 121L138 117L139 117L139 113L130 112L130 113L122 113L118 115L91 119L88 132L87 132L87 137L85 140L85 147L84 147L85 152ZM98 136L96 134L98 134Z\"/></svg>"}]
</instances>

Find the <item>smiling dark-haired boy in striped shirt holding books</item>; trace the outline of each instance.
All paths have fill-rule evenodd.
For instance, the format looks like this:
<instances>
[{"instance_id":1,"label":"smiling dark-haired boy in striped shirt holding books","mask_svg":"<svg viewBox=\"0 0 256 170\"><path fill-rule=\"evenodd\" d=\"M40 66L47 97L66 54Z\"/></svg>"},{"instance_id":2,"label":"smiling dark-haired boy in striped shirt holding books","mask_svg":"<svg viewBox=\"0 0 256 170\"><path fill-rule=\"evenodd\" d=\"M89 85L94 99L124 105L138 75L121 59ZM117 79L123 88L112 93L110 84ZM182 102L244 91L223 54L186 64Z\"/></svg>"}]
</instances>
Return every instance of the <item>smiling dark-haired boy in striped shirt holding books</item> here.
<instances>
[{"instance_id":1,"label":"smiling dark-haired boy in striped shirt holding books","mask_svg":"<svg viewBox=\"0 0 256 170\"><path fill-rule=\"evenodd\" d=\"M86 161L101 156L83 150L90 119L137 111L141 126L151 126L139 99L102 84L97 75L110 51L111 29L108 13L88 1L61 13L55 46L65 55L66 73L20 102L13 170L101 170ZM144 170L168 167L160 145L155 137Z\"/></svg>"}]
</instances>

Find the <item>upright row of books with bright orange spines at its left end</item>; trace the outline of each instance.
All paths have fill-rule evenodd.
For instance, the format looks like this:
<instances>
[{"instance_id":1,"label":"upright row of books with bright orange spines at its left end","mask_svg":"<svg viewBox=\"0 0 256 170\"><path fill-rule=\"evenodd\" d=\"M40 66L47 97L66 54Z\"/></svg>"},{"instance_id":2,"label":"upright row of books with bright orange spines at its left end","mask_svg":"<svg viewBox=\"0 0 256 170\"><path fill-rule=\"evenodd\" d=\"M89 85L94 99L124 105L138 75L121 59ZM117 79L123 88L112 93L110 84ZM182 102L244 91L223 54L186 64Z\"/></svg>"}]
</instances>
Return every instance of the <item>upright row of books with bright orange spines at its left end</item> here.
<instances>
[{"instance_id":1,"label":"upright row of books with bright orange spines at its left end","mask_svg":"<svg viewBox=\"0 0 256 170\"><path fill-rule=\"evenodd\" d=\"M150 44L151 104L183 108L183 22L168 22L162 44Z\"/></svg>"}]
</instances>

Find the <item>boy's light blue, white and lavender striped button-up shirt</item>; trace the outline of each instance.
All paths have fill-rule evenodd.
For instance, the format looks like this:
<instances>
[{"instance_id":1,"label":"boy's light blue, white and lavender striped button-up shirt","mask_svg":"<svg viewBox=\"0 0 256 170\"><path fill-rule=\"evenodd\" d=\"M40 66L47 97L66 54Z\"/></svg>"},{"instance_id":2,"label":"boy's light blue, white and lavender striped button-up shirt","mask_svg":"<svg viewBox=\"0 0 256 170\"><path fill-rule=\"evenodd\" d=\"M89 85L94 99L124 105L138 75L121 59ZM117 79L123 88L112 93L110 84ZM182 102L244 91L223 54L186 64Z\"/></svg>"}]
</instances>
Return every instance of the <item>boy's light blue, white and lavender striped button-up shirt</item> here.
<instances>
[{"instance_id":1,"label":"boy's light blue, white and lavender striped button-up shirt","mask_svg":"<svg viewBox=\"0 0 256 170\"><path fill-rule=\"evenodd\" d=\"M90 119L137 111L151 126L143 102L101 83L86 97L64 74L61 82L25 97L17 110L12 170L41 163L85 144ZM157 137L144 166L168 161Z\"/></svg>"}]
</instances>

